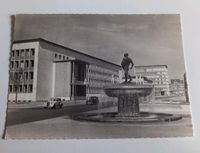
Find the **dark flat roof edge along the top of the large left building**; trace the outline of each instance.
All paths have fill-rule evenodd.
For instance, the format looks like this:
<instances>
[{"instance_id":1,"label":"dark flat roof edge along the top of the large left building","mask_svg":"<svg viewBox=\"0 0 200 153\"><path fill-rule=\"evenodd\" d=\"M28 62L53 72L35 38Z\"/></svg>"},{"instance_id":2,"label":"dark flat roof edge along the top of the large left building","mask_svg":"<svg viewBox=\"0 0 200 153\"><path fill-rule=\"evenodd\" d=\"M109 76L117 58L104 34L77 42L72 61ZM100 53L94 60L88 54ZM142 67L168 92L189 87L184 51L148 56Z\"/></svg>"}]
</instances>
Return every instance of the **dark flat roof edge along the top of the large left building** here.
<instances>
[{"instance_id":1,"label":"dark flat roof edge along the top of the large left building","mask_svg":"<svg viewBox=\"0 0 200 153\"><path fill-rule=\"evenodd\" d=\"M81 55L84 55L84 56L88 56L90 58L93 58L93 59L96 59L96 60L100 60L102 62L105 62L105 63L108 63L108 64L112 64L114 66L117 66L117 67L121 68L121 66L118 65L118 64L115 64L115 63L112 63L112 62L109 62L109 61L106 61L106 60L103 60L103 59L100 59L100 58L97 58L97 57L94 57L94 56L91 56L91 55L88 55L88 54L85 54L85 53L83 53L81 51L78 51L78 50L75 50L75 49L72 49L72 48L68 48L68 47L65 47L65 46L60 45L60 44L56 44L54 42L48 41L48 40L43 39L43 38L15 40L15 41L13 41L13 44L16 44L16 43L29 43L29 42L34 42L34 41L45 42L45 43L48 43L48 44L51 44L51 45L54 45L54 46L57 46L57 47L60 47L60 48L64 48L64 49L70 50L72 52L75 52L75 53L78 53L78 54L81 54Z\"/></svg>"}]
</instances>

